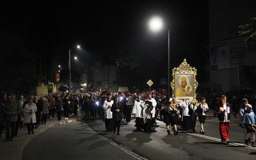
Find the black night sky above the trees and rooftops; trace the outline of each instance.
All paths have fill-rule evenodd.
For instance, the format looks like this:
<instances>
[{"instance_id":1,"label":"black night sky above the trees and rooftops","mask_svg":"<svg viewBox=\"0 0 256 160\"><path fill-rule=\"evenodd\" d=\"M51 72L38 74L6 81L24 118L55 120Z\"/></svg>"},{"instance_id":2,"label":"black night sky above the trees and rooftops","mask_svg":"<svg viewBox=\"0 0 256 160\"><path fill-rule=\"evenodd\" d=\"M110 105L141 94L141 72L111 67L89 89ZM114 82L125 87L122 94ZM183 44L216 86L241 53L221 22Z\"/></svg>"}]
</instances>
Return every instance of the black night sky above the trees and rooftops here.
<instances>
[{"instance_id":1,"label":"black night sky above the trees and rooftops","mask_svg":"<svg viewBox=\"0 0 256 160\"><path fill-rule=\"evenodd\" d=\"M167 55L168 32L148 29L155 15L170 29L175 67L183 58L195 57L198 48L207 47L209 15L204 0L1 1L1 30L17 35L33 54L57 54L64 67L68 49L79 44L83 50L72 49L72 54L83 62L76 67L86 68L124 49L157 49Z\"/></svg>"}]
</instances>

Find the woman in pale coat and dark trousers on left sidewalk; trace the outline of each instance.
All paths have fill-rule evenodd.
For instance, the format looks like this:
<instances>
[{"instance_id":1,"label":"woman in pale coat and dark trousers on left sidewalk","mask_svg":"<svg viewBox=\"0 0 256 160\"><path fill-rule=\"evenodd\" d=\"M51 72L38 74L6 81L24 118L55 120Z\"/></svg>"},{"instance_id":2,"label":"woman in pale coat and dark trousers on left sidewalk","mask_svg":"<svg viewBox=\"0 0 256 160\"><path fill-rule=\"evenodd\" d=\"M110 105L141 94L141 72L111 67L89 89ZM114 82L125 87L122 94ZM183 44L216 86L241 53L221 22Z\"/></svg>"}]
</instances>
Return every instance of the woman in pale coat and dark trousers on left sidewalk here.
<instances>
[{"instance_id":1,"label":"woman in pale coat and dark trousers on left sidewalk","mask_svg":"<svg viewBox=\"0 0 256 160\"><path fill-rule=\"evenodd\" d=\"M36 123L36 104L33 97L29 97L28 103L24 106L24 124L28 126L28 134L34 134L34 124Z\"/></svg>"}]
</instances>

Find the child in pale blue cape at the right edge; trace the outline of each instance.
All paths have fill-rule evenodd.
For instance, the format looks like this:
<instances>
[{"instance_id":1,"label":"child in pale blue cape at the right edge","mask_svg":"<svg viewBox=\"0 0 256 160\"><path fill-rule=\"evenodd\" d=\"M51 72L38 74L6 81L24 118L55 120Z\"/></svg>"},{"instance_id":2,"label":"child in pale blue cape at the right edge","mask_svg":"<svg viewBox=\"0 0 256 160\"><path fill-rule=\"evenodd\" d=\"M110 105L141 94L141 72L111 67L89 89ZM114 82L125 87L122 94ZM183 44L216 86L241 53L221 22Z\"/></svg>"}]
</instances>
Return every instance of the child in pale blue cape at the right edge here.
<instances>
[{"instance_id":1,"label":"child in pale blue cape at the right edge","mask_svg":"<svg viewBox=\"0 0 256 160\"><path fill-rule=\"evenodd\" d=\"M243 116L243 123L244 123L244 128L246 129L246 137L245 137L245 144L249 145L249 138L252 140L252 147L256 147L255 145L255 131L256 131L256 116L255 113L252 110L252 105L251 104L246 104L246 111L244 111L244 116Z\"/></svg>"}]
</instances>

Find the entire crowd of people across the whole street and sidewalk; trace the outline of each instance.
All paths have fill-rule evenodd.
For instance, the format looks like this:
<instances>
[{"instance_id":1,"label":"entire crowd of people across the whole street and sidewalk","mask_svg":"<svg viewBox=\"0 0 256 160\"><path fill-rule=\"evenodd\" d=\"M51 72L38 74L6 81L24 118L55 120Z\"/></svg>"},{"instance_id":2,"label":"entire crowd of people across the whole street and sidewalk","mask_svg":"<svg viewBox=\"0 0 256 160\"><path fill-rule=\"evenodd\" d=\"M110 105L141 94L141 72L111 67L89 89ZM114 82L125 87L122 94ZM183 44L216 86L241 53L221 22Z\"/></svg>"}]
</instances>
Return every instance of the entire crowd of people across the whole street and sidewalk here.
<instances>
[{"instance_id":1,"label":"entire crowd of people across the whole street and sidewalk","mask_svg":"<svg viewBox=\"0 0 256 160\"><path fill-rule=\"evenodd\" d=\"M253 96L254 97L254 96ZM13 141L25 124L28 134L34 133L40 125L47 124L48 118L61 120L69 116L77 116L77 109L81 107L83 118L99 118L104 122L106 131L120 135L120 124L131 122L131 115L135 118L135 127L138 132L152 132L152 126L157 127L156 119L166 124L167 134L177 135L178 126L184 132L196 132L196 121L200 122L200 132L205 134L204 124L209 111L205 97L198 96L192 102L180 101L166 97L164 93L117 93L92 92L78 93L76 95L50 94L44 97L32 96L28 100L22 95L18 98L14 94L7 96L3 93L0 108L0 138L3 129L6 129L6 139ZM220 121L220 138L225 145L229 143L229 127L232 114L240 118L240 126L244 129L244 142L252 143L255 147L256 116L255 102L244 98L239 104L237 97L230 103L225 95L214 95L211 107L214 116ZM249 104L250 103L250 104ZM232 110L234 112L232 112ZM12 130L11 130L12 129ZM180 130L179 129L179 130Z\"/></svg>"}]
</instances>

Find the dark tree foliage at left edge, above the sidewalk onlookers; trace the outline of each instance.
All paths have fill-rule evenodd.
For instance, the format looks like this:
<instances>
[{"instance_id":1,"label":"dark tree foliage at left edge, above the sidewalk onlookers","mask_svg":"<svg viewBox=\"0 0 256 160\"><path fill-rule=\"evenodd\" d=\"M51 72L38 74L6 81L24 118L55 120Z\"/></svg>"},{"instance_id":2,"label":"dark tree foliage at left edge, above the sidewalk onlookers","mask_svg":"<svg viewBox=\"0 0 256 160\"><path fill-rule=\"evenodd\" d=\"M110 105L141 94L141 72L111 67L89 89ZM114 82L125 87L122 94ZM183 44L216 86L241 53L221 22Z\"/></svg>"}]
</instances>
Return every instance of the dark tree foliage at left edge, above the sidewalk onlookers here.
<instances>
[{"instance_id":1,"label":"dark tree foliage at left edge, above the sidewalk onlookers","mask_svg":"<svg viewBox=\"0 0 256 160\"><path fill-rule=\"evenodd\" d=\"M16 36L2 34L0 44L0 90L22 95L35 92L42 77L36 75L33 56Z\"/></svg>"}]
</instances>

